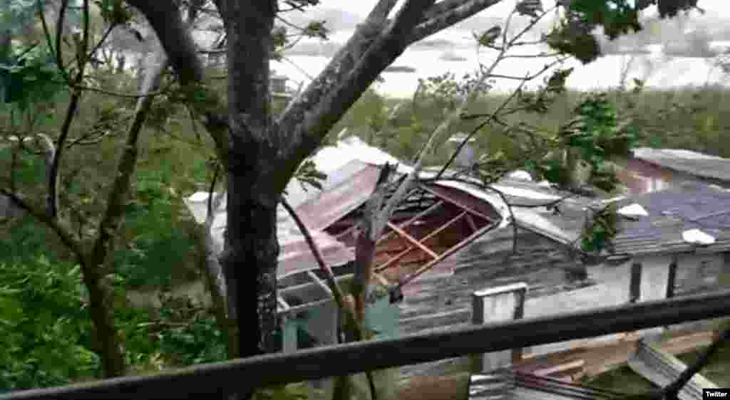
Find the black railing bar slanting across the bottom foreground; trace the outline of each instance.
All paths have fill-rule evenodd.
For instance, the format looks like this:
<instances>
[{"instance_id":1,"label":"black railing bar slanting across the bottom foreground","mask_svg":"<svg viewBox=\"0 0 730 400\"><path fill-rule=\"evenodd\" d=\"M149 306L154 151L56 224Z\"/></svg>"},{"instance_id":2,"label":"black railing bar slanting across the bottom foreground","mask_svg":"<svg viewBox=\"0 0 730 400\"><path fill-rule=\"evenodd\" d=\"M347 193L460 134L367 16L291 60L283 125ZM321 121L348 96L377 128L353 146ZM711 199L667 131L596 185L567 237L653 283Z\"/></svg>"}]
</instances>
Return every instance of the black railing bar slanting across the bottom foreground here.
<instances>
[{"instance_id":1,"label":"black railing bar slanting across the bottom foreground","mask_svg":"<svg viewBox=\"0 0 730 400\"><path fill-rule=\"evenodd\" d=\"M544 318L468 326L447 332L334 345L204 364L145 377L120 377L0 396L25 399L210 399L279 383L355 374L655 326L730 315L730 290Z\"/></svg>"}]
</instances>

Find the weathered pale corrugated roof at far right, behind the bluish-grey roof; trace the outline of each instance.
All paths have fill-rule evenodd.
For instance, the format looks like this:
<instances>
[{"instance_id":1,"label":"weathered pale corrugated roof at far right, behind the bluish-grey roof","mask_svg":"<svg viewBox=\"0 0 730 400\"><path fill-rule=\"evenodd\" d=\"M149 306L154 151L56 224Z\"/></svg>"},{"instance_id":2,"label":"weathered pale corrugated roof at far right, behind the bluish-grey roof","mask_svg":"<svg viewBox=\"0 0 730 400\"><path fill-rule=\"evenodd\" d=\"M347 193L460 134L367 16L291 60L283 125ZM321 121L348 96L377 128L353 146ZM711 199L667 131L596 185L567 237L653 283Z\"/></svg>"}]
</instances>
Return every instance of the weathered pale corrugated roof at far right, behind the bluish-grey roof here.
<instances>
[{"instance_id":1,"label":"weathered pale corrugated roof at far right, behind the bluish-grey roof","mask_svg":"<svg viewBox=\"0 0 730 400\"><path fill-rule=\"evenodd\" d=\"M730 159L682 149L634 149L634 158L694 176L730 181Z\"/></svg>"}]
</instances>

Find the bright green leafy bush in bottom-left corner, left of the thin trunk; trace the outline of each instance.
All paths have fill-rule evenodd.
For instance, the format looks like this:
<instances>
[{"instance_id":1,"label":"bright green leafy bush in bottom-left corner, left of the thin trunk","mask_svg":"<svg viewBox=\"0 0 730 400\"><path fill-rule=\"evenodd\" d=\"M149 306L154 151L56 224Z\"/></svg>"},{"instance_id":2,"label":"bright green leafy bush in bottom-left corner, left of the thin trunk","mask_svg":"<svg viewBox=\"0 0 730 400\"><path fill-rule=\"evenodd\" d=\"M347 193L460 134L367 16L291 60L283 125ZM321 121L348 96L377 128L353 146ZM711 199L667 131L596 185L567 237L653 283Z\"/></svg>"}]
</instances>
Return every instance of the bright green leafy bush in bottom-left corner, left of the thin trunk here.
<instances>
[{"instance_id":1,"label":"bright green leafy bush in bottom-left corner, left of the thin trunk","mask_svg":"<svg viewBox=\"0 0 730 400\"><path fill-rule=\"evenodd\" d=\"M99 373L79 267L36 256L0 264L0 392Z\"/></svg>"}]
</instances>

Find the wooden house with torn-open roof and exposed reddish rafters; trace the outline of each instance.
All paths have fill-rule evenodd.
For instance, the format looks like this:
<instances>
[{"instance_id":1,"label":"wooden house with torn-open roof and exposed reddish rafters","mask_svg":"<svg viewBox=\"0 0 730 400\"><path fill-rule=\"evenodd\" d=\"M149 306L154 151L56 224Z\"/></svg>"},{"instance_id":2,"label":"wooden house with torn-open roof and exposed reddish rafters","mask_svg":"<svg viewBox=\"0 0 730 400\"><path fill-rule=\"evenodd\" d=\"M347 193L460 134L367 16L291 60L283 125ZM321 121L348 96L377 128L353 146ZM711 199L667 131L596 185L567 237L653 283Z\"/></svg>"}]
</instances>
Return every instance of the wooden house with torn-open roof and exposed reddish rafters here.
<instances>
[{"instance_id":1,"label":"wooden house with torn-open roof and exposed reddish rafters","mask_svg":"<svg viewBox=\"0 0 730 400\"><path fill-rule=\"evenodd\" d=\"M390 154L367 146L354 137L339 141L337 146L321 149L312 160L327 174L323 190L304 190L295 180L286 190L287 198L299 218L312 232L315 242L323 249L326 262L331 265L337 280L346 281L353 272L359 217L380 175L380 166L385 162L393 165L397 163L397 173L400 174L410 173L412 169ZM505 200L511 202L512 199L531 197L534 203L530 204L532 206L536 201L539 203L560 198L550 193L548 188L539 187L540 192L537 192L526 187L501 184L495 186L500 193L485 192L468 181L429 181L434 173L428 171L423 172L421 177L426 180L415 187L396 208L388 222L385 237L377 245L377 278L387 286L399 286L405 298L398 305L391 305L385 299L381 306L383 308L377 311L372 323L381 326L378 330L383 335L447 326L450 318L448 315L463 314L464 310L460 308L462 297L458 293L474 288L482 289L494 274L482 274L468 286L458 285L457 291L452 291L448 285L441 287L439 290L442 293L436 297L438 306L431 304L434 299L432 294L436 293L431 293L431 283L444 284L460 279L455 278L458 275L456 270L460 265L458 260L463 259L464 254L469 258L466 264L470 267L464 268L465 271L474 272L481 264L477 258L488 257L490 260L485 261L483 266L493 267L494 271L504 273L505 268L509 267L501 265L504 264L505 257L510 258L514 243L511 235L514 232L518 232L520 238L534 238L532 242L524 244L520 239L520 246L526 247L522 254L512 260L515 264L539 264L538 270L552 271L545 274L555 272L556 285L565 281L565 272L560 267L566 267L566 270L575 268L575 260L561 251L561 246L570 246L575 238L566 235L561 227L546 217L550 212L539 211L537 208L510 209L505 203ZM520 184L527 185L526 182ZM537 184L533 185L538 187ZM204 196L196 197L197 201L189 199L188 205L199 210L193 213L204 210L205 201L202 197ZM222 248L225 205L216 212L212 233ZM280 313L289 315L288 319L284 318L288 321L285 325L296 326L291 329L285 326L285 337L288 337L285 343L289 343L285 344L285 350L303 345L300 340L295 339L299 335L295 332L301 330L310 335L309 345L332 343L336 340L337 318L334 303L323 283L324 276L318 270L301 232L298 232L283 210L280 210L278 231L282 245L278 274ZM482 242L475 244L477 239L491 233L496 235L488 236L492 243L499 242L499 250L498 246L490 249L494 250L493 254L499 254L493 259L492 254L480 255L477 250L488 245ZM496 239L499 235L506 236ZM537 256L548 248L555 254ZM535 262L536 258L541 262ZM526 271L532 269L526 268ZM544 280L544 276L539 277L539 274L533 276L531 282ZM441 302L438 300L440 298L450 300ZM469 295L466 294L464 299L468 301L468 298ZM446 319L429 318L431 313L441 313L446 315Z\"/></svg>"}]
</instances>

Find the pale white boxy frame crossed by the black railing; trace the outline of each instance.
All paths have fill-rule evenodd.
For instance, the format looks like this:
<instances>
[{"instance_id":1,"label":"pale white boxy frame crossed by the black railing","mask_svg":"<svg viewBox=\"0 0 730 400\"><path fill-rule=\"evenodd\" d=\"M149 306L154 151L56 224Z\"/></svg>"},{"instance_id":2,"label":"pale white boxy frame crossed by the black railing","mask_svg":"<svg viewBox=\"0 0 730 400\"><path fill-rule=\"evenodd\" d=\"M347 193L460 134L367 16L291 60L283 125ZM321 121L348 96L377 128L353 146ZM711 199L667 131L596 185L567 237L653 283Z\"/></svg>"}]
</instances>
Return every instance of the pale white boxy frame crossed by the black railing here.
<instances>
[{"instance_id":1,"label":"pale white boxy frame crossed by the black railing","mask_svg":"<svg viewBox=\"0 0 730 400\"><path fill-rule=\"evenodd\" d=\"M472 323L483 325L523 318L527 289L527 283L520 282L475 291L472 294ZM504 368L519 361L521 357L521 348L474 355L472 372L488 372Z\"/></svg>"}]
</instances>

